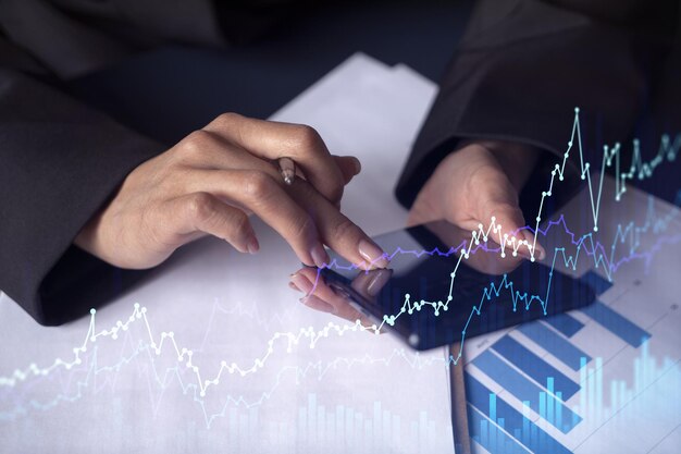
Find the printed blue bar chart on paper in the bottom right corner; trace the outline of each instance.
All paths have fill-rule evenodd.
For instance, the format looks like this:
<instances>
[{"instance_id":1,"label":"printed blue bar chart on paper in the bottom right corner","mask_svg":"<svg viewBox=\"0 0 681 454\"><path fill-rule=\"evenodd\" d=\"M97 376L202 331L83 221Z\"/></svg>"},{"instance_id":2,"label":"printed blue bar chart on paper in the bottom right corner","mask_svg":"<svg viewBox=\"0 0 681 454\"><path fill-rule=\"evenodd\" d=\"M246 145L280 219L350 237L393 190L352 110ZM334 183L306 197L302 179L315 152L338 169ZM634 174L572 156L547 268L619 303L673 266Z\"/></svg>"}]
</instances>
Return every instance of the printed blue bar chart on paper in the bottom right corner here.
<instances>
[{"instance_id":1,"label":"printed blue bar chart on paper in the bottom right corner","mask_svg":"<svg viewBox=\"0 0 681 454\"><path fill-rule=\"evenodd\" d=\"M466 391L469 431L478 451L596 452L593 440L598 431L605 434L603 428L621 415L653 405L651 398L640 397L654 386L665 381L678 384L678 353L656 358L649 351L655 330L669 317L647 329L623 314L633 291L620 285L619 295L612 296L608 293L612 283L593 270L581 279L608 303L599 298L579 311L524 323L471 355ZM645 293L646 280L631 285L643 286L639 293ZM590 348L585 339L598 339L595 344L607 344L612 353L592 353L603 351L600 345ZM673 427L681 421L673 407L670 412L667 426L672 428L670 437L678 438ZM664 444L658 447L667 452Z\"/></svg>"}]
</instances>

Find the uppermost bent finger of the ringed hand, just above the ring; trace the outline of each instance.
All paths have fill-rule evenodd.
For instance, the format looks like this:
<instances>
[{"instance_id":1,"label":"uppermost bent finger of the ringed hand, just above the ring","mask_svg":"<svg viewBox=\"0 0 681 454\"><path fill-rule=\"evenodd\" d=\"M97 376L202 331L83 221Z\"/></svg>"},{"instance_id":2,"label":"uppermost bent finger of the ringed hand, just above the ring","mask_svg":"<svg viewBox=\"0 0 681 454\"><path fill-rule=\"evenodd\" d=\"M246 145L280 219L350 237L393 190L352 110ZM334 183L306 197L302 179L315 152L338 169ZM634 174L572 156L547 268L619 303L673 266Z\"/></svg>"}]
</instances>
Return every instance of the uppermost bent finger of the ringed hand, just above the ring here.
<instances>
[{"instance_id":1,"label":"uppermost bent finger of the ringed hand, just above the ring","mask_svg":"<svg viewBox=\"0 0 681 454\"><path fill-rule=\"evenodd\" d=\"M292 158L306 179L332 204L340 201L345 177L313 127L223 113L206 127L260 158Z\"/></svg>"}]
</instances>

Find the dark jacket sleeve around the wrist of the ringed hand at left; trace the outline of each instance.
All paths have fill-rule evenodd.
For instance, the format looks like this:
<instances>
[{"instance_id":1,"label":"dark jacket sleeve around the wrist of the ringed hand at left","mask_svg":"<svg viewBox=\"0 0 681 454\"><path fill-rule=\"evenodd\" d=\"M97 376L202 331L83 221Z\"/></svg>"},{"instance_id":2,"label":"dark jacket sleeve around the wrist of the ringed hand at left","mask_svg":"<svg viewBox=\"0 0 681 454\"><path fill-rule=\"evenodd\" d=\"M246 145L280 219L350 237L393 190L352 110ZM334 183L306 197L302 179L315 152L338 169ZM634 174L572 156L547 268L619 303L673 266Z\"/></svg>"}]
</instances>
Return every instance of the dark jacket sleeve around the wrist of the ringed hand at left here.
<instances>
[{"instance_id":1,"label":"dark jacket sleeve around the wrist of the ringed hand at left","mask_svg":"<svg viewBox=\"0 0 681 454\"><path fill-rule=\"evenodd\" d=\"M139 272L72 245L127 173L163 147L0 69L0 290L42 324L121 293Z\"/></svg>"}]
</instances>

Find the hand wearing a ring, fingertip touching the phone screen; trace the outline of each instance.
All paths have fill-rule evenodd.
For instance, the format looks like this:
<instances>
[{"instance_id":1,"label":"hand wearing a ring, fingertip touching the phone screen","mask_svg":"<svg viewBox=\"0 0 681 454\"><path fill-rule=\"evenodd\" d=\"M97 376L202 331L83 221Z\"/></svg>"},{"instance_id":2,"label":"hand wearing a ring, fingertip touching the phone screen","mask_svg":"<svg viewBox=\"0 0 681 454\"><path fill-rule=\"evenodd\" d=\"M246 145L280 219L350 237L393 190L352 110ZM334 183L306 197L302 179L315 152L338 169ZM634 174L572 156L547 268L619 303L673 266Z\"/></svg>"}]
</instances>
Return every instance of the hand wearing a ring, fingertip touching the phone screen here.
<instances>
[{"instance_id":1,"label":"hand wearing a ring, fingertip touching the phone screen","mask_svg":"<svg viewBox=\"0 0 681 454\"><path fill-rule=\"evenodd\" d=\"M300 177L284 184L276 159L292 158ZM326 244L355 263L384 267L383 250L338 210L359 173L352 157L332 156L305 125L223 114L131 172L113 199L74 243L121 268L150 268L205 235L255 254L255 213L307 265L323 266Z\"/></svg>"}]
</instances>

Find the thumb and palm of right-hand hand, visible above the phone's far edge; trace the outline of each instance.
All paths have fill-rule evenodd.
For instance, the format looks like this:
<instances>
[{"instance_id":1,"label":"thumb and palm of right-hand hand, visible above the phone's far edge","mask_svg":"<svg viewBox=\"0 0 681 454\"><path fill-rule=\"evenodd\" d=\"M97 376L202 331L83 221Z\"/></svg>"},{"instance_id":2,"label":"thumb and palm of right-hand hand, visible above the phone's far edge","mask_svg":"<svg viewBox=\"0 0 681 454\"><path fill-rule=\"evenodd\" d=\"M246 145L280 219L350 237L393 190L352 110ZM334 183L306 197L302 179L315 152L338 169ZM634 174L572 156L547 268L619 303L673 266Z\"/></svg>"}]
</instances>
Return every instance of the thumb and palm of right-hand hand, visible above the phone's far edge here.
<instances>
[{"instance_id":1,"label":"thumb and palm of right-hand hand, visible above the phone's far edge","mask_svg":"<svg viewBox=\"0 0 681 454\"><path fill-rule=\"evenodd\" d=\"M438 219L469 231L487 230L494 218L500 229L490 238L517 249L518 256L543 259L545 251L523 228L518 194L530 175L538 150L521 144L469 142L445 158L433 172L409 212L408 224ZM504 235L508 234L506 242ZM515 238L515 240L513 240ZM519 244L523 242L523 244ZM528 242L528 244L524 244Z\"/></svg>"}]
</instances>

